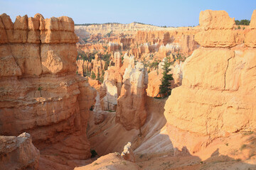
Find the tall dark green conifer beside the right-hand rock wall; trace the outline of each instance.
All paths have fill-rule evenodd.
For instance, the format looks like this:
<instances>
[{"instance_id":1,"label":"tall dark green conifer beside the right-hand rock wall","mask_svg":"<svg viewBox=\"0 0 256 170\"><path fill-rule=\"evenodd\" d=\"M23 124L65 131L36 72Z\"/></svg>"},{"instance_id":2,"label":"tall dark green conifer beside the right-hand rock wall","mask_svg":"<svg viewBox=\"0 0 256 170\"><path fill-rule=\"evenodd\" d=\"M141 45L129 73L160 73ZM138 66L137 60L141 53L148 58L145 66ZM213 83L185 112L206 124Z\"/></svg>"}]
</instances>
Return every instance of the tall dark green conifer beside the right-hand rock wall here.
<instances>
[{"instance_id":1,"label":"tall dark green conifer beside the right-hand rock wall","mask_svg":"<svg viewBox=\"0 0 256 170\"><path fill-rule=\"evenodd\" d=\"M164 94L164 96L169 96L171 94L171 80L174 78L172 74L169 74L171 69L169 69L171 62L169 59L164 60L164 67L163 67L163 77L161 79L161 85L159 86L160 94Z\"/></svg>"}]
</instances>

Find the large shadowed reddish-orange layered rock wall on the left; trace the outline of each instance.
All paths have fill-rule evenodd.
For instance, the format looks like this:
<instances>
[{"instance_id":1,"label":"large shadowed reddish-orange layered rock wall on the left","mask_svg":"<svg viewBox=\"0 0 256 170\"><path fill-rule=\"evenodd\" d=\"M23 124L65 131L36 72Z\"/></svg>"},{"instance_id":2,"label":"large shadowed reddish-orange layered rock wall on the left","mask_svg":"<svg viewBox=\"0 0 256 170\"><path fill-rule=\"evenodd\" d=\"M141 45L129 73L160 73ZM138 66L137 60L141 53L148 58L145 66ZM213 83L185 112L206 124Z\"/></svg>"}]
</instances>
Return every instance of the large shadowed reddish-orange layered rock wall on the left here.
<instances>
[{"instance_id":1,"label":"large shadowed reddish-orange layered rock wall on the left","mask_svg":"<svg viewBox=\"0 0 256 170\"><path fill-rule=\"evenodd\" d=\"M29 132L39 149L62 141L68 158L90 157L85 131L96 91L75 74L72 18L36 14L12 23L4 13L0 37L1 135Z\"/></svg>"}]
</instances>

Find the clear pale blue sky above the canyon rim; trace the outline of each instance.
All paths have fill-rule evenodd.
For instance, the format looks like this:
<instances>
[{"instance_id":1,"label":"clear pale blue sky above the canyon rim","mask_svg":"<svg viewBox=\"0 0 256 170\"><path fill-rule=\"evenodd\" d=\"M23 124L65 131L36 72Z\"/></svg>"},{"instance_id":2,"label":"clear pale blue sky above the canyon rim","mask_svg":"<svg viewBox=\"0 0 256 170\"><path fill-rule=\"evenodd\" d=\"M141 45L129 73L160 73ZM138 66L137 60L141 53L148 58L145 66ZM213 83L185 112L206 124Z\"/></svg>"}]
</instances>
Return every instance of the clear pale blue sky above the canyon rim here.
<instances>
[{"instance_id":1,"label":"clear pale blue sky above the canyon rim","mask_svg":"<svg viewBox=\"0 0 256 170\"><path fill-rule=\"evenodd\" d=\"M248 19L256 0L0 0L0 14L44 18L69 16L75 23L140 23L155 26L197 26L199 13L225 10L235 20Z\"/></svg>"}]
</instances>

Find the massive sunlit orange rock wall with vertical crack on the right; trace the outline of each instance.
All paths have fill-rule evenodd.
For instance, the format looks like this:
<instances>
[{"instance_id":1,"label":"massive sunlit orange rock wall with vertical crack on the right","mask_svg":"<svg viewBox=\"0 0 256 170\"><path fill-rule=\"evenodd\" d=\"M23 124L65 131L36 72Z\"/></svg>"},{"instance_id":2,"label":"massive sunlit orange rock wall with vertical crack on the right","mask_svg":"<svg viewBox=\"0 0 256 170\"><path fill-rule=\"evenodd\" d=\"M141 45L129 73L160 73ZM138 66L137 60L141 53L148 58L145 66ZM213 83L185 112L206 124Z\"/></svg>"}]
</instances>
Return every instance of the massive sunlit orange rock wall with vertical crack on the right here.
<instances>
[{"instance_id":1,"label":"massive sunlit orange rock wall with vertical crack on the right","mask_svg":"<svg viewBox=\"0 0 256 170\"><path fill-rule=\"evenodd\" d=\"M182 86L165 105L174 147L194 153L218 137L256 130L255 13L250 28L236 30L225 11L201 11L201 47L184 63Z\"/></svg>"}]
</instances>

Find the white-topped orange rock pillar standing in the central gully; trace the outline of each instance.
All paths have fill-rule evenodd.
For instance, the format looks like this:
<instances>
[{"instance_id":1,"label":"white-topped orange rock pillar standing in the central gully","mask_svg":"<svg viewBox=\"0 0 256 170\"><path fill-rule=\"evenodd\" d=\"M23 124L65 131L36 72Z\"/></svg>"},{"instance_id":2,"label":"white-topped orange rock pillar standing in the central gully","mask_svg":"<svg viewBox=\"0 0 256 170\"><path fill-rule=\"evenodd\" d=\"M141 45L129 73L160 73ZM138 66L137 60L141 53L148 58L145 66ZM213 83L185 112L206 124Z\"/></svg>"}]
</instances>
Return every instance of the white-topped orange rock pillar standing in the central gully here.
<instances>
[{"instance_id":1,"label":"white-topped orange rock pillar standing in the central gully","mask_svg":"<svg viewBox=\"0 0 256 170\"><path fill-rule=\"evenodd\" d=\"M139 129L146 121L145 97L148 74L144 65L129 64L123 76L121 94L117 99L116 121L124 128Z\"/></svg>"}]
</instances>

